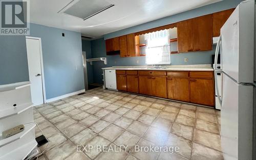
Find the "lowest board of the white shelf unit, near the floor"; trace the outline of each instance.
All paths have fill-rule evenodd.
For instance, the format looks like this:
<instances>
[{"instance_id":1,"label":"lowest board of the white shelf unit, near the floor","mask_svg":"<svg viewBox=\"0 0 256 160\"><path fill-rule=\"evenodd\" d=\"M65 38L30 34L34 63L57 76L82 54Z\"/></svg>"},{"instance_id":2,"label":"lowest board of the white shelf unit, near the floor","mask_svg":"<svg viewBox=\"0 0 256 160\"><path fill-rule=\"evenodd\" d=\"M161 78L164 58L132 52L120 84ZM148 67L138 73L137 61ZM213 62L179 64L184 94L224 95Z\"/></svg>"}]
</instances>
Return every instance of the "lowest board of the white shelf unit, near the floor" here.
<instances>
[{"instance_id":1,"label":"lowest board of the white shelf unit, near the floor","mask_svg":"<svg viewBox=\"0 0 256 160\"><path fill-rule=\"evenodd\" d=\"M27 155L37 146L37 142L35 140L26 143L25 145L16 148L15 150L12 150L8 152L7 154L0 156L0 160L6 160L6 159L20 159L20 157L23 157L22 159L25 159ZM24 156L24 153L25 154Z\"/></svg>"}]
</instances>

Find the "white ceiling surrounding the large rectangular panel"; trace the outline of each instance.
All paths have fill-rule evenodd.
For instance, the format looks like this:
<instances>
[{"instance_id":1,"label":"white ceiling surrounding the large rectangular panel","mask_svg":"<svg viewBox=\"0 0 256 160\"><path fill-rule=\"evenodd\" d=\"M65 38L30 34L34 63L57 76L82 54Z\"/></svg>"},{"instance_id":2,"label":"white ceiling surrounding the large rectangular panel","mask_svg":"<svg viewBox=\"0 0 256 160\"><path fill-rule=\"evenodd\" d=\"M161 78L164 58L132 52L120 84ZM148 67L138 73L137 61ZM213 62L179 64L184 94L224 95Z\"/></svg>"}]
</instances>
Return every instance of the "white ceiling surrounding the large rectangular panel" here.
<instances>
[{"instance_id":1,"label":"white ceiling surrounding the large rectangular panel","mask_svg":"<svg viewBox=\"0 0 256 160\"><path fill-rule=\"evenodd\" d=\"M81 32L86 36L100 37L107 33L216 3L220 0L102 0L115 6L87 20L57 13L72 1L31 0L30 22Z\"/></svg>"}]
</instances>

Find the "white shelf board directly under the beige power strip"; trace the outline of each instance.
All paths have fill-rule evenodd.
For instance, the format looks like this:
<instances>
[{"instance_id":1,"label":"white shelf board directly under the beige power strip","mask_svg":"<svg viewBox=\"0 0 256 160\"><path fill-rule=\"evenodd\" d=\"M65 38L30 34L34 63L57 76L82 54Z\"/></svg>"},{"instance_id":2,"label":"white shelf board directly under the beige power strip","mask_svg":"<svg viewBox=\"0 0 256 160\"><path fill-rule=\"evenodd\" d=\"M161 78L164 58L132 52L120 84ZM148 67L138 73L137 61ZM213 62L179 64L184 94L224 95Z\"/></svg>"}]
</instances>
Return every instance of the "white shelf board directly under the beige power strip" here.
<instances>
[{"instance_id":1,"label":"white shelf board directly under the beige power strip","mask_svg":"<svg viewBox=\"0 0 256 160\"><path fill-rule=\"evenodd\" d=\"M3 147L9 143L12 143L18 139L21 139L23 136L25 136L31 129L33 129L35 127L35 123L31 123L31 124L26 124L24 125L24 130L22 132L19 132L16 135L13 135L11 137L8 137L6 139L3 139L3 135L1 133L0 135L0 147Z\"/></svg>"}]
</instances>

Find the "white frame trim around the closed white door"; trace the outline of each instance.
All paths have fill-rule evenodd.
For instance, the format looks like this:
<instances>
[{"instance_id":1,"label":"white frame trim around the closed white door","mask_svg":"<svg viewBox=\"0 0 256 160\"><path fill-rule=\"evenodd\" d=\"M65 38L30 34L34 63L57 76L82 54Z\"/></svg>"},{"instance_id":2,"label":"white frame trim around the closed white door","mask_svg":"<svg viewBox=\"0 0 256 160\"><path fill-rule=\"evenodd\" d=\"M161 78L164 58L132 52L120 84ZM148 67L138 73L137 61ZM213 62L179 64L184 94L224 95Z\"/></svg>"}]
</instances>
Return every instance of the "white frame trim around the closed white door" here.
<instances>
[{"instance_id":1,"label":"white frame trim around the closed white door","mask_svg":"<svg viewBox=\"0 0 256 160\"><path fill-rule=\"evenodd\" d=\"M42 60L42 44L41 44L41 38L39 37L30 37L26 36L26 39L35 39L39 40L39 51L40 51L40 65L41 65L41 78L42 78L42 98L43 98L43 104L46 103L46 87L45 87L45 73L44 73L44 64ZM27 44L27 43L26 43ZM28 54L27 54L28 58ZM29 67L29 66L28 66Z\"/></svg>"}]
</instances>

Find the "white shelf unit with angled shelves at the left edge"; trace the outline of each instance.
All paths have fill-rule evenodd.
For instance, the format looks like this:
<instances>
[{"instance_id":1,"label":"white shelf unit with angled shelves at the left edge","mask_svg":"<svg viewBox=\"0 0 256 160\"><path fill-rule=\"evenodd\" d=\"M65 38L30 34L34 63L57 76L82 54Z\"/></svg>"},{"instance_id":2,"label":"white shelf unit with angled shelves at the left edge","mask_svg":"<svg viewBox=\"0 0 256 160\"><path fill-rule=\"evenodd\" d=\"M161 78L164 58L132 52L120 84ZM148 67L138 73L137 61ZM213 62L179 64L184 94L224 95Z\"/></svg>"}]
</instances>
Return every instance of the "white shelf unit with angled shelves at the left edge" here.
<instances>
[{"instance_id":1,"label":"white shelf unit with angled shelves at the left edge","mask_svg":"<svg viewBox=\"0 0 256 160\"><path fill-rule=\"evenodd\" d=\"M37 145L30 82L0 85L0 159L24 159ZM28 124L29 123L29 124ZM3 139L2 132L17 125L25 128Z\"/></svg>"}]
</instances>

